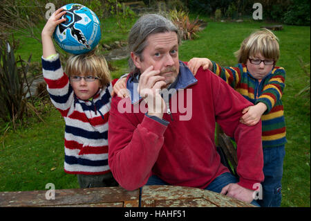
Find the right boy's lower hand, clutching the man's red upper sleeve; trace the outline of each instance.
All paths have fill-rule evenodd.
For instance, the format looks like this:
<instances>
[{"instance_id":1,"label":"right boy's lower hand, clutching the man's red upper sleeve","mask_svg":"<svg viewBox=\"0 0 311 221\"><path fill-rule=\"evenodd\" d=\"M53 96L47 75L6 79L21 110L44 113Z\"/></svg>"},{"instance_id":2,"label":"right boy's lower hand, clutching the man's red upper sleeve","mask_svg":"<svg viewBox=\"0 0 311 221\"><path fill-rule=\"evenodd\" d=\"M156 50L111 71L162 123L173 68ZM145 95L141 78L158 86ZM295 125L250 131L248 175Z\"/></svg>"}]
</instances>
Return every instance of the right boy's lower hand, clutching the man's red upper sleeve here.
<instances>
[{"instance_id":1,"label":"right boy's lower hand, clutching the man's red upper sleeve","mask_svg":"<svg viewBox=\"0 0 311 221\"><path fill-rule=\"evenodd\" d=\"M258 103L254 106L246 107L243 109L243 116L241 116L240 122L247 126L254 126L261 120L261 116L266 109L267 106L264 103Z\"/></svg>"}]
</instances>

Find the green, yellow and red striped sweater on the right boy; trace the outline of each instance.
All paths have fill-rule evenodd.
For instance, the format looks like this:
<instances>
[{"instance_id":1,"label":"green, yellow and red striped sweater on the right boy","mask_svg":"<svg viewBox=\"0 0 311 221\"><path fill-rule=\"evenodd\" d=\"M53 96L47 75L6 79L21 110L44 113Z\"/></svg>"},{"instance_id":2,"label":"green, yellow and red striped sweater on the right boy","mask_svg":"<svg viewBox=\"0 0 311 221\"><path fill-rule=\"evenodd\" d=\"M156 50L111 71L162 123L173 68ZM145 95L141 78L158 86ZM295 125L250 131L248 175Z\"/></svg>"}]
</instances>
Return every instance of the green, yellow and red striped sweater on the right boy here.
<instances>
[{"instance_id":1,"label":"green, yellow and red striped sweater on the right boy","mask_svg":"<svg viewBox=\"0 0 311 221\"><path fill-rule=\"evenodd\" d=\"M220 67L213 62L213 72L223 78L247 100L254 103L264 103L267 110L261 116L263 148L285 145L286 131L284 108L282 104L285 87L285 70L274 67L261 81L253 78L245 64L235 67Z\"/></svg>"}]
</instances>

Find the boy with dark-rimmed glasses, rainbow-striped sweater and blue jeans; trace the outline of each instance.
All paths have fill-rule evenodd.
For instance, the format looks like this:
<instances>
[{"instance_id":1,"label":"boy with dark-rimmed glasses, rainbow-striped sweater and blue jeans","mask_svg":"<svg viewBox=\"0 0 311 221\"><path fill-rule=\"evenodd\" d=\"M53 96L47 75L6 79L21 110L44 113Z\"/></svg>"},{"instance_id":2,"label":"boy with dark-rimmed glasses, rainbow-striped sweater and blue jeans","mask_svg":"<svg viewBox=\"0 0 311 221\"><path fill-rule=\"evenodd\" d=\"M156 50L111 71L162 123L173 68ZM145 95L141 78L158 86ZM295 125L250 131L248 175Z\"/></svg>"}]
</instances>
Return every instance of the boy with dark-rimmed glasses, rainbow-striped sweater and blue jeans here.
<instances>
[{"instance_id":1,"label":"boy with dark-rimmed glasses, rainbow-striped sweater and blue jeans","mask_svg":"<svg viewBox=\"0 0 311 221\"><path fill-rule=\"evenodd\" d=\"M280 206L283 159L285 156L285 120L281 97L285 87L285 70L275 67L279 60L278 38L267 29L249 35L236 51L235 67L220 67L207 58L192 58L189 69L210 69L223 78L254 106L243 110L241 123L256 125L262 120L265 180L261 206Z\"/></svg>"}]
</instances>

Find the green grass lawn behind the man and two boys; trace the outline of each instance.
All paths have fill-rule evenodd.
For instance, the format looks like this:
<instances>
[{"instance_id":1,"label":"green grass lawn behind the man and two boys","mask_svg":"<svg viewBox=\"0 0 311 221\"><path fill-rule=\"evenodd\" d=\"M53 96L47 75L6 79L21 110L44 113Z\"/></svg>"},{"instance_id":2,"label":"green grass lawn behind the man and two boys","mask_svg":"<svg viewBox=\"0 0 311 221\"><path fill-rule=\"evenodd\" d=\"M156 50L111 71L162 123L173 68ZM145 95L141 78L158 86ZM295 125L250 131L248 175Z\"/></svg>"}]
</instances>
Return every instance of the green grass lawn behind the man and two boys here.
<instances>
[{"instance_id":1,"label":"green grass lawn behind the man and two boys","mask_svg":"<svg viewBox=\"0 0 311 221\"><path fill-rule=\"evenodd\" d=\"M126 39L126 35L115 34L107 23L104 42ZM220 23L209 22L197 39L182 42L180 60L207 57L223 66L236 64L234 51L253 30L264 26L261 22ZM110 29L109 29L110 28ZM310 64L310 27L285 26L276 31L281 47L281 58L277 66L285 68L286 81L283 94L288 143L283 175L283 200L281 206L310 206L310 98L295 96L310 84L299 66L299 56ZM35 41L35 40L33 40ZM32 39L21 38L16 55L28 56L30 51L40 61L41 44ZM113 62L114 78L126 72L127 60ZM308 67L310 71L310 67ZM44 114L42 123L37 118L29 119L28 125L16 132L0 130L0 191L44 190L47 183L57 189L78 188L75 175L64 173L64 121L52 106ZM2 125L1 127L2 128Z\"/></svg>"}]
</instances>

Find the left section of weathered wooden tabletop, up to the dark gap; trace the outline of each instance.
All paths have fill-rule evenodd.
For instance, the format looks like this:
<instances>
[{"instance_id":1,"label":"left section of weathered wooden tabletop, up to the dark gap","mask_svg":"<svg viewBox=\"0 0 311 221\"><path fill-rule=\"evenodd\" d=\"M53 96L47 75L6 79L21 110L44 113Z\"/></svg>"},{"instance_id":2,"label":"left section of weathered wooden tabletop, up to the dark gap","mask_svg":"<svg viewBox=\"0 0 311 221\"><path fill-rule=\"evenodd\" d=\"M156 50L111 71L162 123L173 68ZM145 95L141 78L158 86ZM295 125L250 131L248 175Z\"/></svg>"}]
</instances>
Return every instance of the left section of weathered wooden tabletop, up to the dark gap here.
<instances>
[{"instance_id":1,"label":"left section of weathered wooden tabletop, up to the dark gap","mask_svg":"<svg viewBox=\"0 0 311 221\"><path fill-rule=\"evenodd\" d=\"M55 200L46 200L46 191L0 193L0 206L70 206L83 204L129 202L138 205L139 190L121 187L55 190Z\"/></svg>"}]
</instances>

